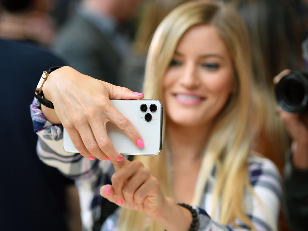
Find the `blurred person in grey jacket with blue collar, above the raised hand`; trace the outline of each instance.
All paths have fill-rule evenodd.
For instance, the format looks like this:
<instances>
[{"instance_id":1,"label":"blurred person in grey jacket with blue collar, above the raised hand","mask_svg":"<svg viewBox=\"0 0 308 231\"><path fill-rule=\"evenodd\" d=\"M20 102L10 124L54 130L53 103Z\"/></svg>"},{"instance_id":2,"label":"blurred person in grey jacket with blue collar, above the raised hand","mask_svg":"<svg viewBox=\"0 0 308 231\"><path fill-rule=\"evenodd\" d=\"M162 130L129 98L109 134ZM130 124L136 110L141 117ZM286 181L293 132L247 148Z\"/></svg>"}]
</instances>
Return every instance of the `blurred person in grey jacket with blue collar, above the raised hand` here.
<instances>
[{"instance_id":1,"label":"blurred person in grey jacket with blue collar, above the raised hand","mask_svg":"<svg viewBox=\"0 0 308 231\"><path fill-rule=\"evenodd\" d=\"M59 32L55 51L86 75L118 84L128 57L131 27L141 0L83 0Z\"/></svg>"}]
</instances>

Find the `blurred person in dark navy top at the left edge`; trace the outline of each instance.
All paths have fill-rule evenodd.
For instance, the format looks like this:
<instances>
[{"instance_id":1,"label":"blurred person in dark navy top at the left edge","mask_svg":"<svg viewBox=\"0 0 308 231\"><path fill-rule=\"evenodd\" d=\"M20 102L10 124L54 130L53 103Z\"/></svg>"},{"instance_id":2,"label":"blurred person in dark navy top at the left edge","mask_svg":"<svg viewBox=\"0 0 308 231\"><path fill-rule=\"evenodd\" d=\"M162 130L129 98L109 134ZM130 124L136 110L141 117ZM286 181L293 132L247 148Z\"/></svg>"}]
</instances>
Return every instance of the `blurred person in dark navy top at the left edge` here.
<instances>
[{"instance_id":1,"label":"blurred person in dark navy top at the left edge","mask_svg":"<svg viewBox=\"0 0 308 231\"><path fill-rule=\"evenodd\" d=\"M74 181L39 160L28 115L37 76L64 64L38 46L0 39L1 230L81 231Z\"/></svg>"}]
</instances>

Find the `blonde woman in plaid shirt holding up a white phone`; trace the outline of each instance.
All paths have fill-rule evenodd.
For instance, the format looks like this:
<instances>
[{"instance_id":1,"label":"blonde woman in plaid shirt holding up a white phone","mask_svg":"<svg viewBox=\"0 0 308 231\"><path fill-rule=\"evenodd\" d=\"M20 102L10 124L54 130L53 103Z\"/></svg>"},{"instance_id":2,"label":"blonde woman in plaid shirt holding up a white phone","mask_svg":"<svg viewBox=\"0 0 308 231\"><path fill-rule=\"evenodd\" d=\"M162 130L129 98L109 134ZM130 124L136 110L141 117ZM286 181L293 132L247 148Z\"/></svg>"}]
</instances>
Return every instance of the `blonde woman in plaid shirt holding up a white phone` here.
<instances>
[{"instance_id":1,"label":"blonde woman in plaid shirt holding up a white phone","mask_svg":"<svg viewBox=\"0 0 308 231\"><path fill-rule=\"evenodd\" d=\"M198 230L274 230L281 185L274 164L249 151L251 75L247 32L234 10L185 3L156 30L146 65L145 97L160 99L165 108L160 155L128 161L104 135L111 121L136 146L147 145L140 145L138 132L109 101L143 94L68 67L52 72L43 85L55 111L42 107L42 114L38 101L32 104L39 155L78 180L82 209L89 206L94 219L99 186L104 198L120 205L102 230L195 230L190 211L177 202L197 206ZM57 142L62 130L43 116L62 123L90 160L65 153ZM94 157L111 161L91 162ZM83 211L88 227L89 215Z\"/></svg>"}]
</instances>

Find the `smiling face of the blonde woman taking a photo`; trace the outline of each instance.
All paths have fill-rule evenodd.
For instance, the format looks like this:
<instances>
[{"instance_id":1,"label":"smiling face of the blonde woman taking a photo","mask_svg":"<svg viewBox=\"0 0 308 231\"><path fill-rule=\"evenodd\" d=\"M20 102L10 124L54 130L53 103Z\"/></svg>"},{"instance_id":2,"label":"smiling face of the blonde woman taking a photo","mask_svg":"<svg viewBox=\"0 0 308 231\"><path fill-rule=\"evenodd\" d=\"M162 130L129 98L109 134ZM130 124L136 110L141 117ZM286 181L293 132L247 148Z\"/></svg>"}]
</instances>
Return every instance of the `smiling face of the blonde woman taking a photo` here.
<instances>
[{"instance_id":1,"label":"smiling face of the blonde woman taking a photo","mask_svg":"<svg viewBox=\"0 0 308 231\"><path fill-rule=\"evenodd\" d=\"M234 88L232 60L214 26L189 28L163 76L167 118L181 126L211 123Z\"/></svg>"}]
</instances>

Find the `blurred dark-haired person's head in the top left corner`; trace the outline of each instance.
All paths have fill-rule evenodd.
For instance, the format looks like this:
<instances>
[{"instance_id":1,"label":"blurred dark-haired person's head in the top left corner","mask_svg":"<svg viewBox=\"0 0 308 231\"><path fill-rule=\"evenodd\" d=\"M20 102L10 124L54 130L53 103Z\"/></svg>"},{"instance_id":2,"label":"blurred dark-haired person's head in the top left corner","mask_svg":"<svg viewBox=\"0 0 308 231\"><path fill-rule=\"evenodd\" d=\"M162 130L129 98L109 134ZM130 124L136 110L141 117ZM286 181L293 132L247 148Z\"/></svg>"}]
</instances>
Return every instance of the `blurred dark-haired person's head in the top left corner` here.
<instances>
[{"instance_id":1,"label":"blurred dark-haired person's head in the top left corner","mask_svg":"<svg viewBox=\"0 0 308 231\"><path fill-rule=\"evenodd\" d=\"M47 0L0 0L0 38L50 45L54 24Z\"/></svg>"}]
</instances>

